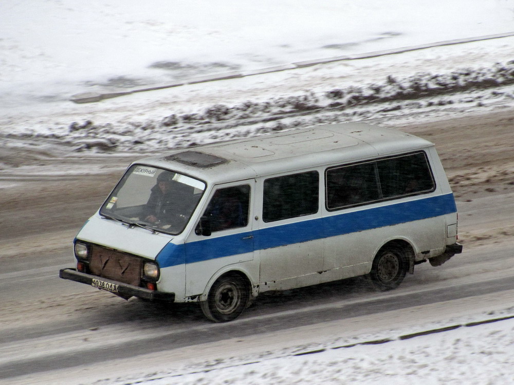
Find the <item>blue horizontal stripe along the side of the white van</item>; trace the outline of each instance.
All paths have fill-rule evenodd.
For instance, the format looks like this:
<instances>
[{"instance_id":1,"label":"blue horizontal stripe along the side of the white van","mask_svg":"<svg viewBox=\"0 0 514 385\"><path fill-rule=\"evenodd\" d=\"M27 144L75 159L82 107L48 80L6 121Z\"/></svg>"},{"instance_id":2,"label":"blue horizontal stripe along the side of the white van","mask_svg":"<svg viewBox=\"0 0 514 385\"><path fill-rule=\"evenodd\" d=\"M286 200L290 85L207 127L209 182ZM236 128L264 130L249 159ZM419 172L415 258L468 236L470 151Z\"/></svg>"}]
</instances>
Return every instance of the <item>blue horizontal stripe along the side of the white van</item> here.
<instances>
[{"instance_id":1,"label":"blue horizontal stripe along the side of the white van","mask_svg":"<svg viewBox=\"0 0 514 385\"><path fill-rule=\"evenodd\" d=\"M238 233L188 243L187 251L183 244L169 243L159 253L157 261L161 268L182 263L206 261L230 255L251 253L254 247L255 249L266 249L285 246L438 217L456 211L453 194L392 203L386 206L353 211L352 213L255 230L253 240L251 238L244 239L250 237L252 232Z\"/></svg>"}]
</instances>

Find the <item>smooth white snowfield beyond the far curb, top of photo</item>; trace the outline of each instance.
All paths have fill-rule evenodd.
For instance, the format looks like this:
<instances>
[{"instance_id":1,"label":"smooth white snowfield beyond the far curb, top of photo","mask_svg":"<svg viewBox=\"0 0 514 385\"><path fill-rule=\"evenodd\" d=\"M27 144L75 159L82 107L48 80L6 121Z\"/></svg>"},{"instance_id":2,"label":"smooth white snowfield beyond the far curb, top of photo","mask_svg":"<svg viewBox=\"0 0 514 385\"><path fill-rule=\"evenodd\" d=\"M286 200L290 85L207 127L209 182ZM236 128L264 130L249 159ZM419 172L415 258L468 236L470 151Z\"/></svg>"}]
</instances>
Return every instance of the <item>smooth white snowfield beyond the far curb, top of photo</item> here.
<instances>
[{"instance_id":1,"label":"smooth white snowfield beyond the far curb, top of photo","mask_svg":"<svg viewBox=\"0 0 514 385\"><path fill-rule=\"evenodd\" d=\"M5 0L0 104L512 32L513 18L510 0Z\"/></svg>"}]
</instances>

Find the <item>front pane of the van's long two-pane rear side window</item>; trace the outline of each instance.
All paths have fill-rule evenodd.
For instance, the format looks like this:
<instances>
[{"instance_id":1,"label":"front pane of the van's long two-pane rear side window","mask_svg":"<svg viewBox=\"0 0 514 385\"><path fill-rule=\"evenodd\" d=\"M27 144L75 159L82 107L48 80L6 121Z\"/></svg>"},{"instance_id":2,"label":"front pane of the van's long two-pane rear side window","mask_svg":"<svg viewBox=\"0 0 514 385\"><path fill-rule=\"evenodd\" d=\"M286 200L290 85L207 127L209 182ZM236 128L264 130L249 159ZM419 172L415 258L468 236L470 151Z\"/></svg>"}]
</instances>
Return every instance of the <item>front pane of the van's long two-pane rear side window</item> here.
<instances>
[{"instance_id":1,"label":"front pane of the van's long two-pane rear side window","mask_svg":"<svg viewBox=\"0 0 514 385\"><path fill-rule=\"evenodd\" d=\"M326 171L328 209L373 202L380 199L375 162L331 168Z\"/></svg>"}]
</instances>

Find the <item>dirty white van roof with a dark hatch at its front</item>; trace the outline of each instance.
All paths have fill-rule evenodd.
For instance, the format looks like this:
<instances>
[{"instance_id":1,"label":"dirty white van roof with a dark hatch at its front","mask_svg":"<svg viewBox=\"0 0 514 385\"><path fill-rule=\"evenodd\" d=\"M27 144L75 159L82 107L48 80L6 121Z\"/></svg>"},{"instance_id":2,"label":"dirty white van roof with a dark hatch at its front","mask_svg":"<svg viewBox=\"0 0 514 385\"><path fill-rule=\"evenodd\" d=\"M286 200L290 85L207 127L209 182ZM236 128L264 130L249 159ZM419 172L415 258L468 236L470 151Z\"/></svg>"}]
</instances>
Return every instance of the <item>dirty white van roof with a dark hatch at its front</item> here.
<instances>
[{"instance_id":1,"label":"dirty white van roof with a dark hatch at its front","mask_svg":"<svg viewBox=\"0 0 514 385\"><path fill-rule=\"evenodd\" d=\"M134 163L171 169L207 183L336 165L433 146L398 130L338 123L182 148Z\"/></svg>"}]
</instances>

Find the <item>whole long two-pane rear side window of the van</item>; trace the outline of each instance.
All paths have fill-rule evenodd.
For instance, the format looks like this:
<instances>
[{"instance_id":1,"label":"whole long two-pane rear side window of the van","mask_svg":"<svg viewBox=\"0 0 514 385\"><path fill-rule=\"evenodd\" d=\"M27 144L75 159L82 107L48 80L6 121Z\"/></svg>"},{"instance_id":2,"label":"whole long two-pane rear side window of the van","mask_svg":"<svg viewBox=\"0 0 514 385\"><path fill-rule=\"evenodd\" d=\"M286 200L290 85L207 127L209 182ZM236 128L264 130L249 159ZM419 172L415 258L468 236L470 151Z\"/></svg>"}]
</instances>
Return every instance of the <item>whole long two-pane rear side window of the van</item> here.
<instances>
[{"instance_id":1,"label":"whole long two-pane rear side window of the van","mask_svg":"<svg viewBox=\"0 0 514 385\"><path fill-rule=\"evenodd\" d=\"M434 189L434 179L424 152L326 170L328 210Z\"/></svg>"}]
</instances>

